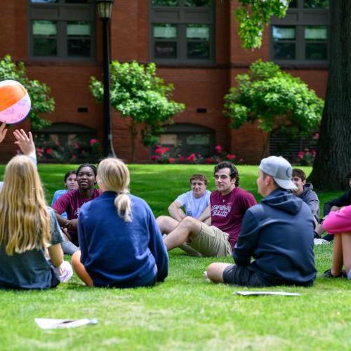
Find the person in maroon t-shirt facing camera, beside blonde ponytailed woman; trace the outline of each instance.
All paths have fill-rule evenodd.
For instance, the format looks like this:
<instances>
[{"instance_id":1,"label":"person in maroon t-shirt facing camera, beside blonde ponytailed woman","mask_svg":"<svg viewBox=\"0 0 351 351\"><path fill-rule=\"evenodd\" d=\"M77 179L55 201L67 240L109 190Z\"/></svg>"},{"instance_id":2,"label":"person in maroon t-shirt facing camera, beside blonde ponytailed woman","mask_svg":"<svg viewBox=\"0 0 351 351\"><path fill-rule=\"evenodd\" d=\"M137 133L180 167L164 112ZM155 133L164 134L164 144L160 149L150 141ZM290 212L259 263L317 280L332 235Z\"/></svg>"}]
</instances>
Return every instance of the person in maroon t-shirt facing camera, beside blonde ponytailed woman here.
<instances>
[{"instance_id":1,"label":"person in maroon t-shirt facing camera, beside blonde ponytailed woman","mask_svg":"<svg viewBox=\"0 0 351 351\"><path fill-rule=\"evenodd\" d=\"M77 169L78 189L63 194L58 201L53 204L58 223L65 230L66 239L74 245L79 246L77 224L78 214L81 206L88 201L100 196L101 192L94 189L96 184L96 167L93 164L81 164ZM62 213L67 212L67 218L63 218ZM73 252L77 251L75 247ZM67 253L73 253L67 252Z\"/></svg>"}]
</instances>

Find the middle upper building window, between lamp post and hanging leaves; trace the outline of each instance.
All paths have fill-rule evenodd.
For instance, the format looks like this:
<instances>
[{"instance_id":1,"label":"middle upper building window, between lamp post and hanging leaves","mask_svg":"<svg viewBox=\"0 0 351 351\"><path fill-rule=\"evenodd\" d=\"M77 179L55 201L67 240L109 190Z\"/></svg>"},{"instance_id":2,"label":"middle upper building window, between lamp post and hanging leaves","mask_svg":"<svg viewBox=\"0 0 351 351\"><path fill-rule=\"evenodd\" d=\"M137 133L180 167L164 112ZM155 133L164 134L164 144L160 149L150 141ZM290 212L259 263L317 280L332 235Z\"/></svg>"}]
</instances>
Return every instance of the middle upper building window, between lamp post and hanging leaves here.
<instances>
[{"instance_id":1,"label":"middle upper building window, between lamp post and hanging leaves","mask_svg":"<svg viewBox=\"0 0 351 351\"><path fill-rule=\"evenodd\" d=\"M151 6L152 60L214 61L213 0L151 0Z\"/></svg>"}]
</instances>

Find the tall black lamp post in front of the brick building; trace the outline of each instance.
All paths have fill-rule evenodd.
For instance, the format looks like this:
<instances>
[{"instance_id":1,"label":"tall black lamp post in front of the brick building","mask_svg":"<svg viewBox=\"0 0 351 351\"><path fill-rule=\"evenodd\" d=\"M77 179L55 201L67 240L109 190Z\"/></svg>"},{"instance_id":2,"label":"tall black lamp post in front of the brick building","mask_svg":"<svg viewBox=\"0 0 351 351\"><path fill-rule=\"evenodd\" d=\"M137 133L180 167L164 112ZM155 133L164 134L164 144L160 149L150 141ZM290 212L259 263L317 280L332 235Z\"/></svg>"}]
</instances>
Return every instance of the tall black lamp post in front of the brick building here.
<instances>
[{"instance_id":1,"label":"tall black lamp post in front of the brick building","mask_svg":"<svg viewBox=\"0 0 351 351\"><path fill-rule=\"evenodd\" d=\"M113 156L112 145L112 119L110 102L110 41L108 23L111 18L112 4L114 0L95 0L98 7L99 18L102 22L102 50L103 50L103 72L104 72L104 156Z\"/></svg>"}]
</instances>

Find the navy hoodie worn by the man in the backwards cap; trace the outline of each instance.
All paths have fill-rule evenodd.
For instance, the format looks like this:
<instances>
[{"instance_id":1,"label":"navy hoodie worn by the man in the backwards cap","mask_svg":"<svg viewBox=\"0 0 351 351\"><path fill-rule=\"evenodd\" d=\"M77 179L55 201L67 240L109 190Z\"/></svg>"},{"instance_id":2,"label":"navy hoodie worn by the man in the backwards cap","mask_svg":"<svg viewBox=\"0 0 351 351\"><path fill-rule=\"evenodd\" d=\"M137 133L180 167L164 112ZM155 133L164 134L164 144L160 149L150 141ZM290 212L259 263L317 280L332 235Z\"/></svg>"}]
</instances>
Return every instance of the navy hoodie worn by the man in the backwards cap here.
<instances>
[{"instance_id":1,"label":"navy hoodie worn by the man in the backwards cap","mask_svg":"<svg viewBox=\"0 0 351 351\"><path fill-rule=\"evenodd\" d=\"M265 285L310 286L316 277L313 238L310 208L277 189L246 211L234 261L249 265Z\"/></svg>"}]
</instances>

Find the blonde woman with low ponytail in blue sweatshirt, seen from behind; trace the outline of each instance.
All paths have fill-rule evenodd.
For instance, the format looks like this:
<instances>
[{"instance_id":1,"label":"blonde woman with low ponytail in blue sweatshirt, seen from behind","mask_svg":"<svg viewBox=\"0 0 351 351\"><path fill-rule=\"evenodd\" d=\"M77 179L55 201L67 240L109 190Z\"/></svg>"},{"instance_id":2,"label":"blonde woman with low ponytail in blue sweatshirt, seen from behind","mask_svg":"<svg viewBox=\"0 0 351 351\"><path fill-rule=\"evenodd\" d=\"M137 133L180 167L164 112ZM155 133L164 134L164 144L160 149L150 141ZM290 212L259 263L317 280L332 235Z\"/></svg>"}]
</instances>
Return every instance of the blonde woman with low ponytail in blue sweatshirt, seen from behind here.
<instances>
[{"instance_id":1,"label":"blonde woman with low ponytail in blue sweatshirt, seen from behind","mask_svg":"<svg viewBox=\"0 0 351 351\"><path fill-rule=\"evenodd\" d=\"M98 166L102 195L82 206L80 250L72 256L87 286L153 286L168 274L168 254L147 203L129 194L129 171L119 159Z\"/></svg>"}]
</instances>

